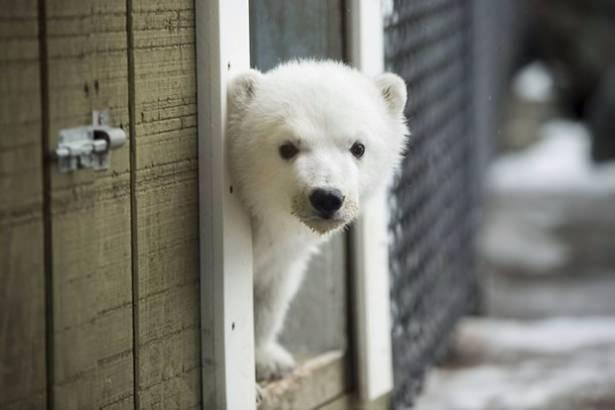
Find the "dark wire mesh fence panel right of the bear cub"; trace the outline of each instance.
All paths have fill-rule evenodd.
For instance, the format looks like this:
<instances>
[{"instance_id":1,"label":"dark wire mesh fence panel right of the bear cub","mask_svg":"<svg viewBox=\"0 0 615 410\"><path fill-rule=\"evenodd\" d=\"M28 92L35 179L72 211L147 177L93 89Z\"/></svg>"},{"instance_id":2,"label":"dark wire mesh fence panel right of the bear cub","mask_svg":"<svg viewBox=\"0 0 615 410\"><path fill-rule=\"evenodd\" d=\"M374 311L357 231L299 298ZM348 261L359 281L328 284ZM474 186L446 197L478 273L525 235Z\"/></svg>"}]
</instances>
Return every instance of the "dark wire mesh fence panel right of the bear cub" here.
<instances>
[{"instance_id":1,"label":"dark wire mesh fence panel right of the bear cub","mask_svg":"<svg viewBox=\"0 0 615 410\"><path fill-rule=\"evenodd\" d=\"M407 82L412 133L391 197L395 409L411 408L454 324L477 306L479 179L506 69L483 36L503 35L505 3L396 0L385 17L385 64Z\"/></svg>"}]
</instances>

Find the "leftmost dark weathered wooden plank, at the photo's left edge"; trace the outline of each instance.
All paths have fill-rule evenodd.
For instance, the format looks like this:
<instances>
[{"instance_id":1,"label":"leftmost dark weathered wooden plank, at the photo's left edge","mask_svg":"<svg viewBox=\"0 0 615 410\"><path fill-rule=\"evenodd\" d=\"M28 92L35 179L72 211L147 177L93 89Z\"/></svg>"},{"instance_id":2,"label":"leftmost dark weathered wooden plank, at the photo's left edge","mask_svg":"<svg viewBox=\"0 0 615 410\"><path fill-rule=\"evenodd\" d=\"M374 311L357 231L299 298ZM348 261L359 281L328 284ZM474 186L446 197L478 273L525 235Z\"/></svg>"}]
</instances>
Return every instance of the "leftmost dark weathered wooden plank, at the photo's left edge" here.
<instances>
[{"instance_id":1,"label":"leftmost dark weathered wooden plank, at the photo's left edge","mask_svg":"<svg viewBox=\"0 0 615 410\"><path fill-rule=\"evenodd\" d=\"M36 0L0 7L0 408L45 408L42 130Z\"/></svg>"}]
</instances>

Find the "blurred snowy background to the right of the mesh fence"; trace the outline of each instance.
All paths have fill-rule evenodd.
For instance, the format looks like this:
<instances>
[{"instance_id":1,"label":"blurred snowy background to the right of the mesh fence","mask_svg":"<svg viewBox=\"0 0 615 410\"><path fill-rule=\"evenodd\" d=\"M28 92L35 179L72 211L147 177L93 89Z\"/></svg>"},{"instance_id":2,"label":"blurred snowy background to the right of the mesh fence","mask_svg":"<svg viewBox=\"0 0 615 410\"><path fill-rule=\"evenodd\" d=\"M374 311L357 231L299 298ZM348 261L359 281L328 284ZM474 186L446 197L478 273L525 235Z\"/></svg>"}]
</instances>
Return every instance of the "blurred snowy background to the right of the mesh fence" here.
<instances>
[{"instance_id":1,"label":"blurred snowy background to the right of the mesh fence","mask_svg":"<svg viewBox=\"0 0 615 410\"><path fill-rule=\"evenodd\" d=\"M476 315L415 408L613 409L615 3L477 3Z\"/></svg>"}]
</instances>

